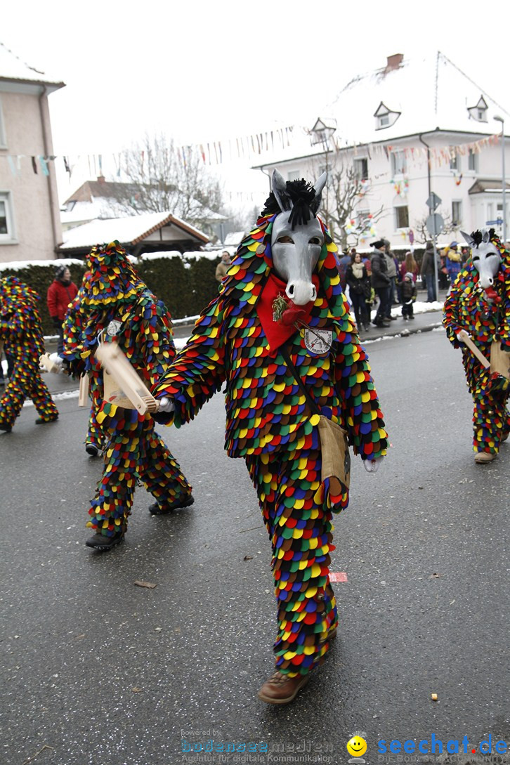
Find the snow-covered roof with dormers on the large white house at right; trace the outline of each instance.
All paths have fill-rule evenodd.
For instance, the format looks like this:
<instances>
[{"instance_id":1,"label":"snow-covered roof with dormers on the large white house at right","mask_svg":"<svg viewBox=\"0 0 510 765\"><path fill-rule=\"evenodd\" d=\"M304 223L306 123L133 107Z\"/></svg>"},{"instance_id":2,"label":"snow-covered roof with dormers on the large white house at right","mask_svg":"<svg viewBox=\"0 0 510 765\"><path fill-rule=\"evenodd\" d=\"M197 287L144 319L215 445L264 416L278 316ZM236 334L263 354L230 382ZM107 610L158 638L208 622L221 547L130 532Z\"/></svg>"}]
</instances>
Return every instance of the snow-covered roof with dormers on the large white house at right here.
<instances>
[{"instance_id":1,"label":"snow-covered roof with dormers on the large white house at right","mask_svg":"<svg viewBox=\"0 0 510 765\"><path fill-rule=\"evenodd\" d=\"M333 141L341 149L437 131L492 135L500 130L493 121L498 112L510 122L510 112L440 51L416 59L395 54L385 67L346 83L315 124L310 119L309 135L303 131L274 159L323 153L327 138L329 148Z\"/></svg>"}]
</instances>

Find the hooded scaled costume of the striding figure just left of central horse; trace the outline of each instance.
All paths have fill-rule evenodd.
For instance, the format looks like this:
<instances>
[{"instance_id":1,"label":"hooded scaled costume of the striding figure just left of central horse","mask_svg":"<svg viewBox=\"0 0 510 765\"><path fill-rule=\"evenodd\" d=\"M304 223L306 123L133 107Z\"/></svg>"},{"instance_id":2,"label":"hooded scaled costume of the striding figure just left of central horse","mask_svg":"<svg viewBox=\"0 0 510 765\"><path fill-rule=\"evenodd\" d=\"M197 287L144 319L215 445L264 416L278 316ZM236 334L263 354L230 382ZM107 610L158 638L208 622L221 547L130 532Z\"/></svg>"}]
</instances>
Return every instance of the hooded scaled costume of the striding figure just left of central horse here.
<instances>
[{"instance_id":1,"label":"hooded scaled costume of the striding figure just left of central horse","mask_svg":"<svg viewBox=\"0 0 510 765\"><path fill-rule=\"evenodd\" d=\"M89 375L105 438L105 469L87 526L112 536L127 527L137 479L158 502L174 503L191 487L154 432L151 415L104 400L102 369L94 355L99 340L116 340L146 385L154 385L175 355L170 314L138 278L119 243L93 247L87 265L89 274L64 322L63 356L73 373Z\"/></svg>"}]
</instances>

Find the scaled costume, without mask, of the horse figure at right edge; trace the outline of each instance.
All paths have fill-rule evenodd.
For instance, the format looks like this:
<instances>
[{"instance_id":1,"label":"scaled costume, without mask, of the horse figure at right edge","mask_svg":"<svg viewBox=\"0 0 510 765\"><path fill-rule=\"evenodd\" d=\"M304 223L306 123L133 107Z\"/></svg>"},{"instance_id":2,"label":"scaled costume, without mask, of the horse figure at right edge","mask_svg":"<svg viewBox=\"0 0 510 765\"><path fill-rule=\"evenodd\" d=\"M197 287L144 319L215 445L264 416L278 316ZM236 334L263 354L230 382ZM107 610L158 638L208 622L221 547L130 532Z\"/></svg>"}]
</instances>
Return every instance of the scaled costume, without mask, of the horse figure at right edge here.
<instances>
[{"instance_id":1,"label":"scaled costume, without mask, of the horse figure at right edge","mask_svg":"<svg viewBox=\"0 0 510 765\"><path fill-rule=\"evenodd\" d=\"M487 359L493 340L501 343L503 350L510 351L510 252L497 237L491 241L502 256L493 285L499 299L487 299L479 285L478 271L469 259L444 301L443 324L453 347L463 350L466 382L473 396L473 450L498 454L501 441L510 431L506 408L510 382L492 375L456 337L457 332L466 330Z\"/></svg>"}]
</instances>

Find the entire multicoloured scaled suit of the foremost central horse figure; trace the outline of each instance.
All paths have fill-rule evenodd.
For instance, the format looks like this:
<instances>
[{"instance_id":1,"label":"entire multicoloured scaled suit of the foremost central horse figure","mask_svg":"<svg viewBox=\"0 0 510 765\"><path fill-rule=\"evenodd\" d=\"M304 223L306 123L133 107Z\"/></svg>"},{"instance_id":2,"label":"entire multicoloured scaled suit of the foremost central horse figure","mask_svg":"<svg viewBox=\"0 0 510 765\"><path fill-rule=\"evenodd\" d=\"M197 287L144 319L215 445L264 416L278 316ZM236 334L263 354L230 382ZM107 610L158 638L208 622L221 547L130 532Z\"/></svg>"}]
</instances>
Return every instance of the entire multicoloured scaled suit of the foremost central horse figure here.
<instances>
[{"instance_id":1,"label":"entire multicoloured scaled suit of the foremost central horse figure","mask_svg":"<svg viewBox=\"0 0 510 765\"><path fill-rule=\"evenodd\" d=\"M262 216L239 246L219 297L203 311L154 395L173 399L167 422L178 427L226 381L226 451L245 458L273 550L276 668L295 676L317 666L336 627L328 569L331 513L346 507L349 496L345 486L333 495L328 482L321 483L319 417L288 369L283 345L323 415L346 428L357 454L380 457L387 440L369 363L339 286L336 246L325 229L313 274L317 299L308 304L305 321L326 334L319 331L317 338L273 321L272 304L285 289L272 264L275 217ZM305 343L307 331L308 346L317 352ZM328 337L330 350L320 355Z\"/></svg>"}]
</instances>

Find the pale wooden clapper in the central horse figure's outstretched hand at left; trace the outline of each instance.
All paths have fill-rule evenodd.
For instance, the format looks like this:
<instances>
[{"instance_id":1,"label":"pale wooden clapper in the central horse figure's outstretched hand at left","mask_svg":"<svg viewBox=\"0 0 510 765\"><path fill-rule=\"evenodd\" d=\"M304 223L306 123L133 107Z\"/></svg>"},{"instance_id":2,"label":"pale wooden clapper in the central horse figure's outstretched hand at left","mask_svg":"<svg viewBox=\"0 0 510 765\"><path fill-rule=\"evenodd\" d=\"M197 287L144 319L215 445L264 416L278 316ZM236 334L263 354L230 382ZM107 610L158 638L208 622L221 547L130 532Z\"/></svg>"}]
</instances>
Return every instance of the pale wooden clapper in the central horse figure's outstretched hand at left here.
<instances>
[{"instance_id":1,"label":"pale wooden clapper in the central horse figure's outstretched hand at left","mask_svg":"<svg viewBox=\"0 0 510 765\"><path fill-rule=\"evenodd\" d=\"M119 348L119 343L99 343L96 359L103 369L104 400L124 409L157 412L158 402Z\"/></svg>"}]
</instances>

